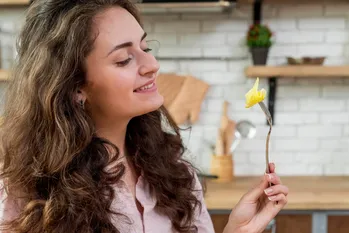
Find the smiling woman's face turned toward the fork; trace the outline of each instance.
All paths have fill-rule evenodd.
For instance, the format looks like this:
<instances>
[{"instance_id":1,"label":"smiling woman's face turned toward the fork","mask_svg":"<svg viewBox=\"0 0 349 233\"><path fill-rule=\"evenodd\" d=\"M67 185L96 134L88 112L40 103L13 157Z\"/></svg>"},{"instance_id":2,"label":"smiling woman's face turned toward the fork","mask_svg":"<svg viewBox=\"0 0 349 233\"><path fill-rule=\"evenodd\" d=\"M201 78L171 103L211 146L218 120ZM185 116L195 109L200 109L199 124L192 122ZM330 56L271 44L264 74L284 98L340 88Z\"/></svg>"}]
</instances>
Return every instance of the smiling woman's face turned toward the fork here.
<instances>
[{"instance_id":1,"label":"smiling woman's face turned toward the fork","mask_svg":"<svg viewBox=\"0 0 349 233\"><path fill-rule=\"evenodd\" d=\"M110 8L95 17L93 33L97 38L82 88L92 118L129 120L158 109L163 104L155 84L159 64L137 20L123 8Z\"/></svg>"}]
</instances>

